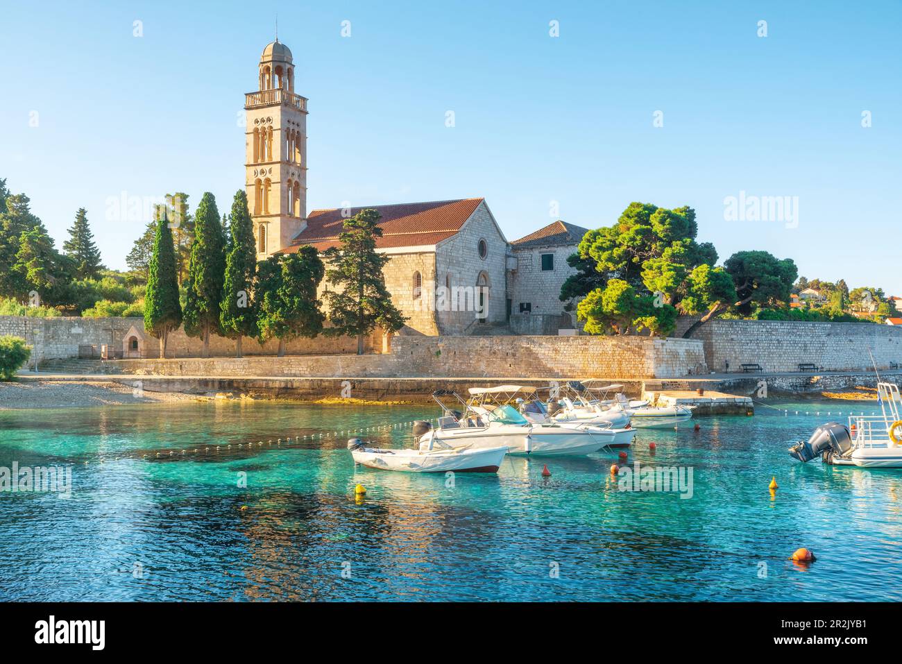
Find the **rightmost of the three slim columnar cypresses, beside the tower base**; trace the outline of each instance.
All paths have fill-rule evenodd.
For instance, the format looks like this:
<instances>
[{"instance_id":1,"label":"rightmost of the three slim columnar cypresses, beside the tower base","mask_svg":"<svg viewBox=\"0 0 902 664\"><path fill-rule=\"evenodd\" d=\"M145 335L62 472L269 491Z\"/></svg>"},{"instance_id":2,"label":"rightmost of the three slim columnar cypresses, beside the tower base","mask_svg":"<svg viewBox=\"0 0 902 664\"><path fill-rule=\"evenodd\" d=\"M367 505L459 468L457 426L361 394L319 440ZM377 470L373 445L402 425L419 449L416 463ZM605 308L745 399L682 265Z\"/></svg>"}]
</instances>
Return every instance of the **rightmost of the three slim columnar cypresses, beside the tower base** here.
<instances>
[{"instance_id":1,"label":"rightmost of the three slim columnar cypresses, beside the tower base","mask_svg":"<svg viewBox=\"0 0 902 664\"><path fill-rule=\"evenodd\" d=\"M225 216L223 222L225 228ZM253 277L257 268L256 246L253 244L253 221L247 208L244 189L235 193L227 227L230 241L219 324L226 337L235 339L235 357L241 357L242 337L257 336L257 318L251 302Z\"/></svg>"}]
</instances>

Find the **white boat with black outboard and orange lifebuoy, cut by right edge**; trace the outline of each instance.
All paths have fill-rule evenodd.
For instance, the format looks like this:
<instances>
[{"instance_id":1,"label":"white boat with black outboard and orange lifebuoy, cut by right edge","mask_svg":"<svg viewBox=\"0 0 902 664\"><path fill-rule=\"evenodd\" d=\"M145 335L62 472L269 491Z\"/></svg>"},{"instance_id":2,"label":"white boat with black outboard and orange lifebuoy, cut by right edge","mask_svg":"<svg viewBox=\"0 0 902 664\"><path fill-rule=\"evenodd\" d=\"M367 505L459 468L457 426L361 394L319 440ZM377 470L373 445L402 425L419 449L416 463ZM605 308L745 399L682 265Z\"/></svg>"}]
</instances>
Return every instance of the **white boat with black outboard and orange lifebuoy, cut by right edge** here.
<instances>
[{"instance_id":1,"label":"white boat with black outboard and orange lifebuoy, cut by right edge","mask_svg":"<svg viewBox=\"0 0 902 664\"><path fill-rule=\"evenodd\" d=\"M831 466L902 468L902 420L899 389L894 383L877 383L882 415L852 415L849 425L827 422L808 438L789 448L789 456L805 463L821 457Z\"/></svg>"}]
</instances>

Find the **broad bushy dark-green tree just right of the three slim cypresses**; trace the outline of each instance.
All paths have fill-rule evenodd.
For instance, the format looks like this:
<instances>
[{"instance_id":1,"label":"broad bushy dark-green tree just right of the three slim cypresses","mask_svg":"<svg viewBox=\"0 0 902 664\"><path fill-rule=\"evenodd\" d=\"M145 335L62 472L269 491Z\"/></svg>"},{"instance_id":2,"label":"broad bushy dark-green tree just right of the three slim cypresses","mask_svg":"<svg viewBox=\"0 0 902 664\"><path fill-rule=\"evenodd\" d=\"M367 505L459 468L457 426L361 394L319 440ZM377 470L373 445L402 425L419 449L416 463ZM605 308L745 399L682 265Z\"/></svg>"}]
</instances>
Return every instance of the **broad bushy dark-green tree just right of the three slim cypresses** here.
<instances>
[{"instance_id":1,"label":"broad bushy dark-green tree just right of the three slim cypresses","mask_svg":"<svg viewBox=\"0 0 902 664\"><path fill-rule=\"evenodd\" d=\"M325 272L317 250L311 246L301 246L294 254L270 256L257 265L254 291L260 343L279 339L281 357L290 339L316 337L323 330L326 317L320 309L317 288Z\"/></svg>"}]
</instances>

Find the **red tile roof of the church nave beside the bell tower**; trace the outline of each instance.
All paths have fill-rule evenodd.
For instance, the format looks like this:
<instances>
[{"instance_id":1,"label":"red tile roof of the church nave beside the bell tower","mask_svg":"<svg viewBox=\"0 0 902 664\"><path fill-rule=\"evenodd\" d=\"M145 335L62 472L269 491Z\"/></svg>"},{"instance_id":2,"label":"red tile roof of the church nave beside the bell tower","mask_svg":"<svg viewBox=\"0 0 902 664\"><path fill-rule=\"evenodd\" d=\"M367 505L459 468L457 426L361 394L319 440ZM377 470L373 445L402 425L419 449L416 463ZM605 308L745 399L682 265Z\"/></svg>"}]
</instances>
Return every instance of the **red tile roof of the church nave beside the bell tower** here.
<instances>
[{"instance_id":1,"label":"red tile roof of the church nave beside the bell tower","mask_svg":"<svg viewBox=\"0 0 902 664\"><path fill-rule=\"evenodd\" d=\"M376 240L377 248L431 245L456 235L483 200L484 198L461 198L428 203L368 205L351 208L350 216L354 217L364 209L378 210L382 216L379 222L382 237ZM279 253L292 254L303 244L309 244L320 252L337 246L338 234L345 222L342 209L311 211L307 216L307 228L294 238L291 246Z\"/></svg>"}]
</instances>

